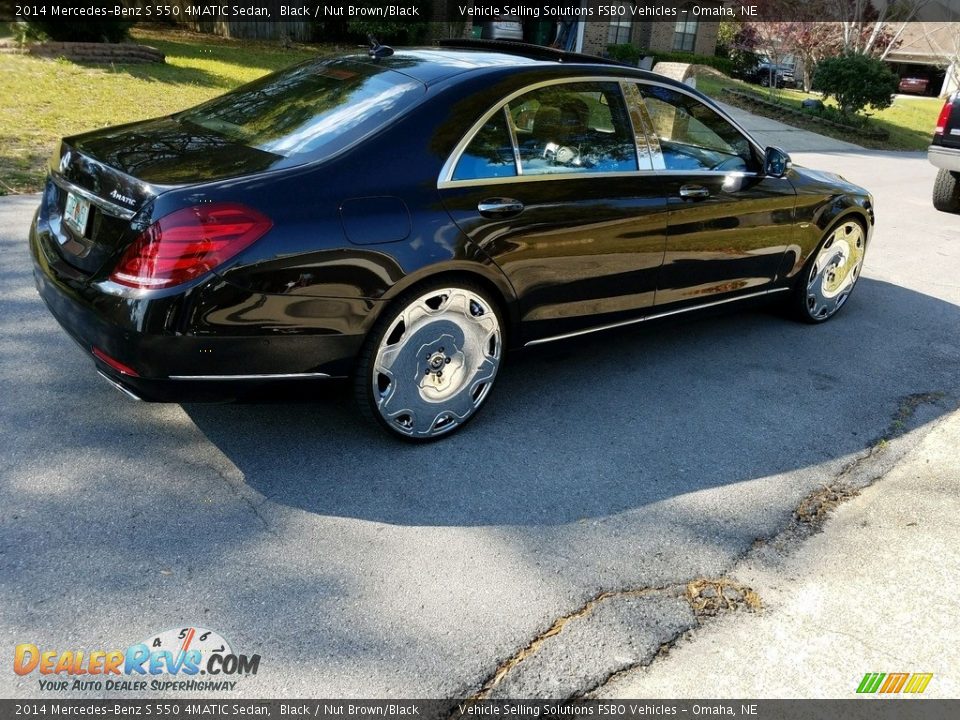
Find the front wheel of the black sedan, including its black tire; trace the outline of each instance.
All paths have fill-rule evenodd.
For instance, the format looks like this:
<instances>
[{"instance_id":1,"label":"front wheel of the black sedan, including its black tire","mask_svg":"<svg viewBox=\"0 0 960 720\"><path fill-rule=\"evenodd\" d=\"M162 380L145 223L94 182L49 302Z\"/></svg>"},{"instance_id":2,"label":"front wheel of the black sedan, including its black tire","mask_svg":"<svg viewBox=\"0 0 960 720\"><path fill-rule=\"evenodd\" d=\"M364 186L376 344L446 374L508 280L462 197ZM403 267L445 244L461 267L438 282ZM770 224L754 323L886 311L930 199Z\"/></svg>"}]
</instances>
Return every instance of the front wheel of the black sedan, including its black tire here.
<instances>
[{"instance_id":1,"label":"front wheel of the black sedan, including its black tire","mask_svg":"<svg viewBox=\"0 0 960 720\"><path fill-rule=\"evenodd\" d=\"M860 279L866 252L867 234L859 220L848 218L827 231L797 278L791 315L806 323L836 315Z\"/></svg>"}]
</instances>

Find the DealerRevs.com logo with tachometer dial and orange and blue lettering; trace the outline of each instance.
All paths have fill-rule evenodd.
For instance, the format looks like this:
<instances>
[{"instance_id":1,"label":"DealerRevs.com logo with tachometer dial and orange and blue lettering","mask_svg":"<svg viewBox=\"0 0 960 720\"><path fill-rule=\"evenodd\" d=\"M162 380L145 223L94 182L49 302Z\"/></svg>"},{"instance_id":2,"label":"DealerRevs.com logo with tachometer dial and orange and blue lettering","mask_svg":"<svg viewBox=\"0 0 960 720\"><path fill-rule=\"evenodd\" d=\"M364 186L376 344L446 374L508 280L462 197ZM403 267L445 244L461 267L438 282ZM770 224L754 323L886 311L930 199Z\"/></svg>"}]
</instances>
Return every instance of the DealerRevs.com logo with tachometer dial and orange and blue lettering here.
<instances>
[{"instance_id":1,"label":"DealerRevs.com logo with tachometer dial and orange and blue lettering","mask_svg":"<svg viewBox=\"0 0 960 720\"><path fill-rule=\"evenodd\" d=\"M13 654L13 671L37 673L44 691L224 691L259 669L259 655L237 654L223 636L201 627L167 630L126 650L61 652L21 643Z\"/></svg>"}]
</instances>

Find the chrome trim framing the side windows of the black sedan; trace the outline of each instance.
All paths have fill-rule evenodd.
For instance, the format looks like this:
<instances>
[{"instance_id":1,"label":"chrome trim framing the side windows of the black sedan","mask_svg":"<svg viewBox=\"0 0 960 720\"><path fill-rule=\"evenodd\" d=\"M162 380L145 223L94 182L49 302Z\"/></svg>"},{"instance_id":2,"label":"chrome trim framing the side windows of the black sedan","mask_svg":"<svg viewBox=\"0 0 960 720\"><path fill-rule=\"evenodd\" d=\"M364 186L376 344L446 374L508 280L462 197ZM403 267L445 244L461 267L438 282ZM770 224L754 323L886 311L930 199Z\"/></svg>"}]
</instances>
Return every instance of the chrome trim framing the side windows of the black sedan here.
<instances>
[{"instance_id":1,"label":"chrome trim framing the side windows of the black sedan","mask_svg":"<svg viewBox=\"0 0 960 720\"><path fill-rule=\"evenodd\" d=\"M520 153L520 149L519 149L519 145L518 145L518 143L517 143L517 141L516 141L516 138L515 138L515 136L514 136L514 132L515 132L515 131L514 131L514 129L513 129L513 120L512 120L512 118L510 117L509 111L507 110L507 106L510 104L511 101L516 100L516 99L517 99L518 97L520 97L521 95L525 95L525 94L527 94L527 93L529 93L529 92L533 92L534 90L539 90L539 89L544 88L544 87L550 87L550 86L552 86L552 85L565 85L565 84L583 83L583 82L617 83L617 84L620 86L620 95L621 95L621 97L624 99L624 102L626 102L626 105L627 105L627 113L628 113L628 115L631 115L631 116L632 116L632 112L631 112L631 106L630 106L630 101L629 101L630 99L629 99L629 98L625 95L625 93L624 93L624 88L623 88L623 84L624 84L624 83L631 84L631 85L635 85L635 86L639 86L639 85L655 85L655 86L658 86L658 87L666 88L667 90L672 90L672 91L674 91L674 92L680 93L681 95L686 95L687 97L691 98L692 100L695 100L695 101L697 101L697 102L699 102L699 103L701 103L701 104L703 104L703 105L706 105L710 110L712 110L713 112L717 113L717 115L719 115L722 119L724 119L724 120L726 120L728 123L730 123L737 132L739 132L744 138L746 138L747 142L750 143L751 147L753 147L753 149L757 151L757 153L759 154L759 156L760 156L761 158L764 156L764 149L763 149L762 147L760 147L760 144L759 144L756 140L754 140L753 137L751 137L750 133L748 133L746 130L743 129L743 127L740 125L740 123L738 123L736 120L734 120L732 117L730 117L730 115L728 115L728 114L726 113L726 111L723 110L723 108L721 108L721 107L720 107L719 105L717 105L716 103L713 103L713 104L705 103L702 98L697 97L696 95L694 95L693 93L689 92L687 89L685 89L685 88L682 87L682 86L677 86L677 85L672 85L672 84L665 83L665 82L660 82L660 81L655 80L655 79L637 78L637 77L622 76L622 75L621 75L621 76L614 76L614 75L575 75L575 76L564 77L564 78L551 78L550 80L542 80L542 81L537 82L537 83L532 83L532 84L530 84L530 85L525 85L524 87L520 88L519 90L513 91L512 93L510 93L510 94L507 95L506 97L501 98L498 102L496 102L496 103L493 105L493 107L490 108L490 110L488 110L487 112L485 112L483 115L480 116L480 119L477 120L477 121L470 127L469 130L467 130L467 132L463 135L463 137L460 138L460 141L454 146L453 151L450 153L449 157L447 157L447 160L446 160L446 162L444 162L443 167L440 168L440 175L439 175L439 177L437 178L437 189L438 189L438 190L443 190L443 189L446 189L446 188L454 188L454 187L471 187L471 186L483 185L483 184L504 185L504 184L509 184L509 183L513 183L513 182L529 182L529 181L531 181L531 180L533 180L533 179L538 179L538 180L560 180L560 179L564 179L564 180L566 180L566 179L571 179L571 178L584 178L584 177L593 178L593 177L600 177L600 176L604 176L604 177L623 177L623 176L633 176L633 175L635 175L635 174L641 174L641 173L656 173L656 174L658 174L658 175L669 175L669 174L674 174L674 175L708 175L708 176L710 176L710 177L716 177L716 176L720 176L720 175L731 175L731 174L742 175L742 176L744 176L744 177L760 177L760 176L763 176L762 173L757 173L757 172L739 172L739 171L738 171L738 172L736 172L736 173L730 173L730 172L726 172L726 171L723 171L723 170L697 170L697 171L684 172L684 171L680 171L680 170L674 170L674 171L666 170L665 167L664 167L664 168L658 168L658 167L657 167L658 164L663 164L663 154L660 152L660 141L659 141L659 138L657 137L656 133L653 131L653 126L652 126L652 124L650 123L649 117L646 116L646 106L644 105L643 102L640 102L640 104L639 104L639 110L640 110L640 113L641 113L641 117L643 118L643 123L644 123L644 125L646 126L646 127L644 128L644 130L646 131L646 134L647 134L647 147L649 147L650 150L651 150L651 152L653 153L652 158L651 158L651 162L652 162L652 164L653 164L654 167L653 167L652 170L639 170L639 169L638 169L638 170L635 170L635 171L629 171L629 172L623 172L623 171L621 171L621 172L616 172L616 173L603 173L603 172L599 172L599 173L557 173L556 175L553 175L553 174L545 174L545 175L523 175L523 168L520 167L520 165L519 165L519 160L518 160L518 156L519 156L519 153ZM637 88L637 93L639 94L639 88ZM641 98L641 100L642 100L642 98ZM475 136L478 132L480 132L480 129L481 129L498 111L500 111L501 109L503 109L505 112L507 112L507 121L508 121L508 122L507 122L507 127L508 127L508 129L509 129L509 131L510 131L510 133L511 133L511 141L513 142L514 160L518 163L518 166L517 166L518 174L517 174L517 176L516 176L516 177L497 177L497 178L470 178L469 180L466 180L466 179L465 179L465 180L454 180L454 179L453 179L453 173L454 173L454 171L456 170L457 163L460 162L460 157L463 155L464 151L467 149L467 146L473 141L474 136ZM631 117L631 121L632 121L632 117ZM655 143L655 145L651 144L651 140ZM639 145L638 145L638 142L637 142L636 138L634 138L634 147L635 147L635 149L636 149L636 151L637 151L637 153L638 153L638 162L639 162ZM658 159L659 159L659 163L658 163ZM764 177L767 177L767 176L764 176ZM777 179L785 179L785 178L777 178Z\"/></svg>"}]
</instances>

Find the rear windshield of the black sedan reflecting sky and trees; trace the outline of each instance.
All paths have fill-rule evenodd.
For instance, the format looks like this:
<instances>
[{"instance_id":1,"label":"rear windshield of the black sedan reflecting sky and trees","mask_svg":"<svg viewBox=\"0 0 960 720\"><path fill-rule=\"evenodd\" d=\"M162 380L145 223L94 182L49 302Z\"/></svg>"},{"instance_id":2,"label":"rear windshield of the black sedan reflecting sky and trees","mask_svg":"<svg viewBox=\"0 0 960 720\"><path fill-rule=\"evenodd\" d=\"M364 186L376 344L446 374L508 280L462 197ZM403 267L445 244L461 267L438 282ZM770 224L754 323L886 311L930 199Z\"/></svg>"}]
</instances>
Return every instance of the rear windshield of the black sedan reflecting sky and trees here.
<instances>
[{"instance_id":1,"label":"rear windshield of the black sedan reflecting sky and trees","mask_svg":"<svg viewBox=\"0 0 960 720\"><path fill-rule=\"evenodd\" d=\"M422 97L422 83L339 58L283 70L177 116L234 142L297 160L341 150Z\"/></svg>"}]
</instances>

